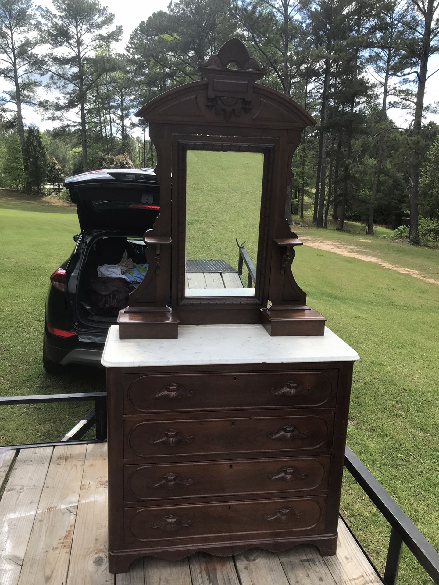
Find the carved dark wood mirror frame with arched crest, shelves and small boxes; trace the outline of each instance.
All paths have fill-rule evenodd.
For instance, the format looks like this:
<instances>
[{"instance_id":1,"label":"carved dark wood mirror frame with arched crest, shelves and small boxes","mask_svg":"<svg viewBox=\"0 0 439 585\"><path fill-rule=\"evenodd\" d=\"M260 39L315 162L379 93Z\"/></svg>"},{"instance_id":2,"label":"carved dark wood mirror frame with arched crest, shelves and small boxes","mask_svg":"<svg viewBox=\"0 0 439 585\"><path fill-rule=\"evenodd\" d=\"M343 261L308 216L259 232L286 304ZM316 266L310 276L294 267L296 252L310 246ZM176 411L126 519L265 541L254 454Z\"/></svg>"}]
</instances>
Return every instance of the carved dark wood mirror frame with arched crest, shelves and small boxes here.
<instances>
[{"instance_id":1,"label":"carved dark wood mirror frame with arched crest, shelves and small boxes","mask_svg":"<svg viewBox=\"0 0 439 585\"><path fill-rule=\"evenodd\" d=\"M164 92L136 113L156 147L160 215L143 236L149 269L119 313L119 336L173 338L179 324L234 323L262 323L270 335L323 335L325 319L306 307L290 268L301 242L285 218L291 160L301 131L315 121L286 95L255 84L267 67L238 39L198 66L203 79ZM264 153L255 297L184 297L188 149Z\"/></svg>"}]
</instances>

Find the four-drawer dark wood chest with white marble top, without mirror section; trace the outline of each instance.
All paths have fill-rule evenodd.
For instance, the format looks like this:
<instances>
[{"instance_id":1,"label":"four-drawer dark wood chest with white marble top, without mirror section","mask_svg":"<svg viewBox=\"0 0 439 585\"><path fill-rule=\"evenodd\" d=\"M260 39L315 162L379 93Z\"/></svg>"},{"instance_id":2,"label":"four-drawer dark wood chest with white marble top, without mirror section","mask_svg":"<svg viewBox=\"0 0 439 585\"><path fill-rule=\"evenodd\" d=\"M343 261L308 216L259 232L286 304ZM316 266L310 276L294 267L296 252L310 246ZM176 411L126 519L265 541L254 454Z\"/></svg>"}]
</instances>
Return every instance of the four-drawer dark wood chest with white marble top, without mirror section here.
<instances>
[{"instance_id":1,"label":"four-drawer dark wood chest with white marble top, without mirror section","mask_svg":"<svg viewBox=\"0 0 439 585\"><path fill-rule=\"evenodd\" d=\"M187 325L119 340L108 370L109 568L143 555L337 549L355 351L329 329Z\"/></svg>"}]
</instances>

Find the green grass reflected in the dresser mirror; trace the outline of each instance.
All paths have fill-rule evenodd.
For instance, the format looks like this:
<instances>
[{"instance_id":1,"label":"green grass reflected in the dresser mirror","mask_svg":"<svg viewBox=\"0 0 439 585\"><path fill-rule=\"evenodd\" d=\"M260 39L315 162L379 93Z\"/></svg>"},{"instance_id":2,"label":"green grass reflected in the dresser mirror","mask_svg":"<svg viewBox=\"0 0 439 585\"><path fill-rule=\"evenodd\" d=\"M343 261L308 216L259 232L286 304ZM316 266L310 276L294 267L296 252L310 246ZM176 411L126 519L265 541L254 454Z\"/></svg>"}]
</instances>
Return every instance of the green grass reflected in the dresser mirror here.
<instances>
[{"instance_id":1,"label":"green grass reflected in the dresser mirror","mask_svg":"<svg viewBox=\"0 0 439 585\"><path fill-rule=\"evenodd\" d=\"M187 258L205 259L208 249L210 259L225 260L236 270L236 238L245 242L256 266L262 171L262 153L188 150Z\"/></svg>"}]
</instances>

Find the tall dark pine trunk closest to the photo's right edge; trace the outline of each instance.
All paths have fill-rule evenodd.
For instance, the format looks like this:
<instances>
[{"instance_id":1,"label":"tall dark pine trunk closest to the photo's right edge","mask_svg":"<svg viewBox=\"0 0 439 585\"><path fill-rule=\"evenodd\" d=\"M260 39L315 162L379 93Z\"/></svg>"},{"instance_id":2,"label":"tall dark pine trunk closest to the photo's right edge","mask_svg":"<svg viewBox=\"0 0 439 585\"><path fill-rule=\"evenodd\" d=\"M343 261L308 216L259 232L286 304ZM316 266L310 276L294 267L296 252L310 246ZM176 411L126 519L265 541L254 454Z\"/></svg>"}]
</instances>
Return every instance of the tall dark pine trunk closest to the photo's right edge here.
<instances>
[{"instance_id":1,"label":"tall dark pine trunk closest to the photo's right edge","mask_svg":"<svg viewBox=\"0 0 439 585\"><path fill-rule=\"evenodd\" d=\"M411 135L416 138L421 133L422 125L422 113L424 109L424 95L426 91L427 81L427 66L428 57L430 56L430 43L431 43L431 23L433 22L434 16L434 3L433 0L428 0L426 12L424 16L424 34L422 37L421 51L420 51L420 62L419 62L419 74L418 74L418 87L416 92L416 106L414 108L414 119L413 129ZM417 141L419 142L419 140ZM418 234L418 215L419 215L419 178L420 178L420 166L421 166L421 147L415 142L414 153L411 157L410 165L410 232L409 238L412 243L419 243Z\"/></svg>"}]
</instances>

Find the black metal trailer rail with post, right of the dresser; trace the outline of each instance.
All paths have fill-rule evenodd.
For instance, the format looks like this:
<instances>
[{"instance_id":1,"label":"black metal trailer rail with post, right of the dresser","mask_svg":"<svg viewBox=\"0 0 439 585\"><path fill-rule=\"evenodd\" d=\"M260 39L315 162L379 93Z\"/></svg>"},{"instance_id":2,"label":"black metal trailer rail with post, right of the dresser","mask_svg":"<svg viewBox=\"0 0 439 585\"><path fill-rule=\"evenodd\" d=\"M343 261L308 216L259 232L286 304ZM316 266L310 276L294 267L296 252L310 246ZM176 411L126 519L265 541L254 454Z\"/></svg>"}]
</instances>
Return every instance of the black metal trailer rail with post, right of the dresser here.
<instances>
[{"instance_id":1,"label":"black metal trailer rail with post, right of the dresser","mask_svg":"<svg viewBox=\"0 0 439 585\"><path fill-rule=\"evenodd\" d=\"M345 467L392 526L384 574L377 571L383 583L396 584L404 543L433 582L439 584L439 554L348 446L345 449Z\"/></svg>"}]
</instances>

